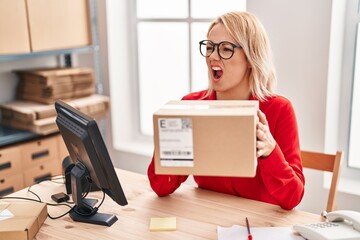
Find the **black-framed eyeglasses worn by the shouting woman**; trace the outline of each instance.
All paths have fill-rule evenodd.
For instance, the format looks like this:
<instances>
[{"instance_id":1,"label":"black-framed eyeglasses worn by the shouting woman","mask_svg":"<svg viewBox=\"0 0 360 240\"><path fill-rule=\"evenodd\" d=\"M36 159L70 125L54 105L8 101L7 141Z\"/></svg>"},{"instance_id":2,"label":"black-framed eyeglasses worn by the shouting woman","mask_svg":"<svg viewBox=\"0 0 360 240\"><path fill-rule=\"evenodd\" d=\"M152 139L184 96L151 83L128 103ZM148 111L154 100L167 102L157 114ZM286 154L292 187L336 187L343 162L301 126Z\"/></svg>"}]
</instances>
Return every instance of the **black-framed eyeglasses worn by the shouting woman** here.
<instances>
[{"instance_id":1,"label":"black-framed eyeglasses worn by the shouting woman","mask_svg":"<svg viewBox=\"0 0 360 240\"><path fill-rule=\"evenodd\" d=\"M219 43L214 43L210 40L202 40L199 42L200 53L204 57L210 57L210 55L215 51L217 46L218 55L222 59L230 59L234 55L235 48L241 48L241 46L235 45L228 41L222 41Z\"/></svg>"}]
</instances>

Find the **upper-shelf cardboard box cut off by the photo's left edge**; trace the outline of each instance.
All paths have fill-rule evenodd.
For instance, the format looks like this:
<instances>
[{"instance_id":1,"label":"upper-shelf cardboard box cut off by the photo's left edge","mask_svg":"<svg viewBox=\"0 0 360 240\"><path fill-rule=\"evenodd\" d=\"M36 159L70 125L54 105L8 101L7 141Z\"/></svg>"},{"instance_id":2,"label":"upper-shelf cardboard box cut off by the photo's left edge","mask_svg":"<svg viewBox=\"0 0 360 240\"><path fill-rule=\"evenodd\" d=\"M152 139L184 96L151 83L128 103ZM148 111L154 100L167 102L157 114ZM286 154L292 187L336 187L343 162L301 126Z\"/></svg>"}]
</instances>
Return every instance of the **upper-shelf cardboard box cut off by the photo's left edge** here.
<instances>
[{"instance_id":1,"label":"upper-shelf cardboard box cut off by the photo's left edge","mask_svg":"<svg viewBox=\"0 0 360 240\"><path fill-rule=\"evenodd\" d=\"M30 52L24 0L0 1L0 36L0 54Z\"/></svg>"}]
</instances>

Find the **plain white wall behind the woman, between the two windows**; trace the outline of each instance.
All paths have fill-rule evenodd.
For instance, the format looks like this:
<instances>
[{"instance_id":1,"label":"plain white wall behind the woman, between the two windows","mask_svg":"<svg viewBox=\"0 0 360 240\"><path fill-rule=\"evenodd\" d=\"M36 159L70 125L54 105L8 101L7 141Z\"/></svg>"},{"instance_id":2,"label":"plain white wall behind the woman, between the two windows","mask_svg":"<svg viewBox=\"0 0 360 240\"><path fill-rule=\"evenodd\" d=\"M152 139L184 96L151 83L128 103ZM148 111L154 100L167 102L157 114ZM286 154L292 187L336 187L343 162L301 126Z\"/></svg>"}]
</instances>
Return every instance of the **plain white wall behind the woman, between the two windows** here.
<instances>
[{"instance_id":1,"label":"plain white wall behind the woman, between the two windows","mask_svg":"<svg viewBox=\"0 0 360 240\"><path fill-rule=\"evenodd\" d=\"M305 149L324 148L331 2L251 0L247 5L269 35L277 90L294 104Z\"/></svg>"}]
</instances>

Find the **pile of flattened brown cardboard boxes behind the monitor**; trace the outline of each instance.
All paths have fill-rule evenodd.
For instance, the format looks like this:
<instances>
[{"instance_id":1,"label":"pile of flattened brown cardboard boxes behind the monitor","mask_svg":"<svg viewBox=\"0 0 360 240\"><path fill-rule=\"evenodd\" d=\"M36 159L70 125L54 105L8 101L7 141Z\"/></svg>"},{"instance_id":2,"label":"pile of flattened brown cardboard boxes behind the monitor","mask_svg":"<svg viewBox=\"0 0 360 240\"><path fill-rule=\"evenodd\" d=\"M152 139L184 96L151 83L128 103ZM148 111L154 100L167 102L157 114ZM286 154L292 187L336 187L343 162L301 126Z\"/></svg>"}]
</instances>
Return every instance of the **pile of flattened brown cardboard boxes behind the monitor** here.
<instances>
[{"instance_id":1,"label":"pile of flattened brown cardboard boxes behind the monitor","mask_svg":"<svg viewBox=\"0 0 360 240\"><path fill-rule=\"evenodd\" d=\"M47 68L15 71L19 76L17 100L0 104L1 124L47 135L58 131L54 102L66 101L81 112L100 118L109 98L95 94L90 68Z\"/></svg>"}]
</instances>

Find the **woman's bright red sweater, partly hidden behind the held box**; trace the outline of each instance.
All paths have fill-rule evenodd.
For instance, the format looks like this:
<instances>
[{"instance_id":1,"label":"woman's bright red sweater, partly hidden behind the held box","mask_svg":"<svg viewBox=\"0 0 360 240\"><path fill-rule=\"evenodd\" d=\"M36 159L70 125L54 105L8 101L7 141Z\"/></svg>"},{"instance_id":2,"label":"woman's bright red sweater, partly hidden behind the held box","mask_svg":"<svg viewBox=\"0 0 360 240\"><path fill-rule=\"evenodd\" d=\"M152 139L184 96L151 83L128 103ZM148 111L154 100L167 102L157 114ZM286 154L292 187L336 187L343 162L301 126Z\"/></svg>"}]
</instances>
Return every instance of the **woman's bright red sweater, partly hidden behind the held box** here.
<instances>
[{"instance_id":1,"label":"woman's bright red sweater, partly hidden behind the held box","mask_svg":"<svg viewBox=\"0 0 360 240\"><path fill-rule=\"evenodd\" d=\"M182 100L201 100L206 91L190 93ZM203 100L216 100L215 93ZM253 97L250 100L255 100ZM208 177L194 176L200 188L232 194L279 205L292 209L299 204L304 194L304 175L300 158L298 127L290 101L274 96L259 103L266 115L270 132L277 145L266 158L258 158L256 176ZM158 196L173 193L188 176L157 175L154 157L148 167L152 189Z\"/></svg>"}]
</instances>

